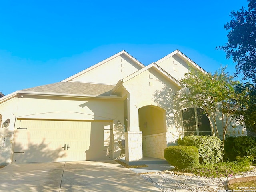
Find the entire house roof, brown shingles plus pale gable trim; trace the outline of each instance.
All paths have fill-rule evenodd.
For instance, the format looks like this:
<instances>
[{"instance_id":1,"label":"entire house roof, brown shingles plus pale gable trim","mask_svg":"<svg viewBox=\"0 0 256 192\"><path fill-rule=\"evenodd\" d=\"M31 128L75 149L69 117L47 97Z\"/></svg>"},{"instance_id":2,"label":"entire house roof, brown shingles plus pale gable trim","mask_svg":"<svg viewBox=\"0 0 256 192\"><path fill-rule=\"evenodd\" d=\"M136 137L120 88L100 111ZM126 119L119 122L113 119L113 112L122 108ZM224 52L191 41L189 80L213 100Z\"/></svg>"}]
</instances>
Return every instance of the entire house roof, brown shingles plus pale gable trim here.
<instances>
[{"instance_id":1,"label":"entire house roof, brown shingles plus pale gable trim","mask_svg":"<svg viewBox=\"0 0 256 192\"><path fill-rule=\"evenodd\" d=\"M68 82L90 70L93 70L97 68L98 66L103 65L104 63L124 54L126 57L128 57L130 60L132 60L135 64L140 66L140 70L134 72L133 74L125 77L124 79L120 80L116 85L110 85L110 84L97 84L97 83L85 83L85 82ZM6 96L0 98L0 103L5 102L6 100L9 100L13 97L16 97L21 94L30 94L30 95L44 95L44 96L65 96L65 97L81 97L81 98L120 98L120 96L112 95L114 92L122 85L122 83L127 82L128 80L136 77L137 75L141 74L142 72L154 68L154 70L158 71L160 74L163 75L166 79L168 79L170 82L174 82L178 87L182 87L182 84L174 78L172 75L168 74L164 69L162 69L160 66L158 66L158 63L168 59L171 56L174 56L177 54L182 60L188 61L194 68L197 68L198 70L201 70L205 74L207 73L205 70L203 70L200 66L198 66L196 63L194 63L192 60L190 60L187 56L185 56L182 52L179 50L175 50L174 52L168 54L164 58L158 60L155 63L152 63L148 66L144 66L141 64L138 60L136 60L134 57L132 57L130 54L128 54L126 51L121 51L110 58L107 58L103 60L102 62L99 62L98 64L91 66L87 68L86 70L83 70L82 72L79 72L65 80L62 80L61 82L54 83L54 84L48 84L43 86L38 86L34 88L28 88L20 91L13 92L11 94L8 94ZM1 92L0 92L1 94Z\"/></svg>"}]
</instances>

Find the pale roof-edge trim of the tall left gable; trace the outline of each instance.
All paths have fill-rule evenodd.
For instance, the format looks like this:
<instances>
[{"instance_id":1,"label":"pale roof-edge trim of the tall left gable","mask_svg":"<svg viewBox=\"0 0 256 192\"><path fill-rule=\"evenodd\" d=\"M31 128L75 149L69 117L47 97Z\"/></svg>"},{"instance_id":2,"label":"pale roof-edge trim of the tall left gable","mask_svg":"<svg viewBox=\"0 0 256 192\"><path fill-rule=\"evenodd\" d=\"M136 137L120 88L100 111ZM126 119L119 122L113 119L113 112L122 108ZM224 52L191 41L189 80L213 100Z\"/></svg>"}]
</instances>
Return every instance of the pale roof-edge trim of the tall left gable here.
<instances>
[{"instance_id":1,"label":"pale roof-edge trim of the tall left gable","mask_svg":"<svg viewBox=\"0 0 256 192\"><path fill-rule=\"evenodd\" d=\"M108 61L110 61L110 60L112 60L112 59L114 59L114 58L116 58L116 57L118 57L118 56L120 56L120 55L122 55L122 54L124 54L126 57L128 57L130 60L132 60L134 63L136 63L136 64L137 64L138 66L140 66L141 68L144 68L144 67L145 67L141 62L139 62L139 61L136 60L133 56L131 56L130 54L128 54L125 50L122 50L121 52L119 52L119 53L117 53L117 54L115 54L115 55L113 55L113 56L111 56L111 57L109 57L109 58L107 58L107 59L105 59L105 60L99 62L98 64L95 64L95 65L93 65L93 66L91 66L91 67L89 67L89 68L87 68L87 69L85 69L85 70L83 70L83 71L81 71L81 72L79 72L79 73L77 73L77 74L75 74L75 75L69 77L69 78L66 78L66 79L62 80L61 82L68 82L68 81L71 81L72 79L77 78L78 76L80 76L80 75L82 75L82 74L85 74L86 72L89 72L90 70L93 70L93 69L95 69L95 68L97 68L97 67L99 67L99 66L105 64L106 62L108 62Z\"/></svg>"}]
</instances>

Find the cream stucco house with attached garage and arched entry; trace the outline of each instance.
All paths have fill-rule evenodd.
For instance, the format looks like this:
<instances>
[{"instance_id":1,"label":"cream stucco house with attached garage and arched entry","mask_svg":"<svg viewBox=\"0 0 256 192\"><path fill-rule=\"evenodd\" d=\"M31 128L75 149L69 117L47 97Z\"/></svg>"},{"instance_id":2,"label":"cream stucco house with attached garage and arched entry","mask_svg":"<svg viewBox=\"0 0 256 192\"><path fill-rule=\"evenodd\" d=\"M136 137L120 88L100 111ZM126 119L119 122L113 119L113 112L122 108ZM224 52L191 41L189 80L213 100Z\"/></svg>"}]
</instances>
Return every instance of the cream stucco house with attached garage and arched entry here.
<instances>
[{"instance_id":1,"label":"cream stucco house with attached garage and arched entry","mask_svg":"<svg viewBox=\"0 0 256 192\"><path fill-rule=\"evenodd\" d=\"M172 102L188 65L206 73L179 50L148 66L121 51L61 82L0 98L0 164L115 159L123 139L129 162L164 158L180 136L210 135L201 109Z\"/></svg>"}]
</instances>

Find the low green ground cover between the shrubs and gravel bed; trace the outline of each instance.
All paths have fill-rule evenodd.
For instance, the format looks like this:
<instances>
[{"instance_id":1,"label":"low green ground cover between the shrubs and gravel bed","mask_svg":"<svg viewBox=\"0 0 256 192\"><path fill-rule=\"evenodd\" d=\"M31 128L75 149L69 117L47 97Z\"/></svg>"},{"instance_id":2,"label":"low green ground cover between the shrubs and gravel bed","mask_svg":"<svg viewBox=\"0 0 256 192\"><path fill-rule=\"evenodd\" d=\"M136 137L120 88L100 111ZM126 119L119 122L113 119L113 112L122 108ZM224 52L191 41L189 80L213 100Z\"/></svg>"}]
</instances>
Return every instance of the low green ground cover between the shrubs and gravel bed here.
<instances>
[{"instance_id":1,"label":"low green ground cover between the shrubs and gravel bed","mask_svg":"<svg viewBox=\"0 0 256 192\"><path fill-rule=\"evenodd\" d=\"M251 170L252 157L238 158L237 161L233 162L222 162L215 164L199 164L196 167L188 168L186 172L193 172L195 175L202 177L232 177L241 172Z\"/></svg>"}]
</instances>

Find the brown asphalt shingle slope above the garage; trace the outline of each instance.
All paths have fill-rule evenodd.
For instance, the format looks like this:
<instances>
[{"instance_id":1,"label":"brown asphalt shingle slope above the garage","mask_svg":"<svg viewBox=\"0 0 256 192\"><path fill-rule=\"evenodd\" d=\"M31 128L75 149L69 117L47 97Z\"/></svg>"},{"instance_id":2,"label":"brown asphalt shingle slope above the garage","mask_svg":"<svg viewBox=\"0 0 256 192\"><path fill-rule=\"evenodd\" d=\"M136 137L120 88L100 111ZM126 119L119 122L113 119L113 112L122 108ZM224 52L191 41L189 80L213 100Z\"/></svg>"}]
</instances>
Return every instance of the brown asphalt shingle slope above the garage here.
<instances>
[{"instance_id":1,"label":"brown asphalt shingle slope above the garage","mask_svg":"<svg viewBox=\"0 0 256 192\"><path fill-rule=\"evenodd\" d=\"M114 87L115 87L114 85L106 85L106 84L58 82L58 83L23 89L22 91L58 93L58 94L110 96Z\"/></svg>"}]
</instances>

